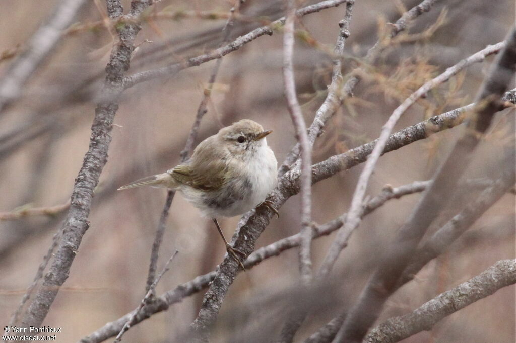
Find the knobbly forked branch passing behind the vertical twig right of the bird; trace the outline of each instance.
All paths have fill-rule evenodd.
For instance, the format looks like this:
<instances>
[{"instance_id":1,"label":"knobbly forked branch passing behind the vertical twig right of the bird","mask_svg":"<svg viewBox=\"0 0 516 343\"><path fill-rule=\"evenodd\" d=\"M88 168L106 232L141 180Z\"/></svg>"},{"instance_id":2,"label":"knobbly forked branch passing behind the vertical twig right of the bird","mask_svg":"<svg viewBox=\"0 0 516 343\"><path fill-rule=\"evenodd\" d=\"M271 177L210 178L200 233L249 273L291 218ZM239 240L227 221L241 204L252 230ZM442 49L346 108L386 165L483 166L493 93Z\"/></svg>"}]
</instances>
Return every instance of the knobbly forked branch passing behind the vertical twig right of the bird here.
<instances>
[{"instance_id":1,"label":"knobbly forked branch passing behind the vertical twig right of the bird","mask_svg":"<svg viewBox=\"0 0 516 343\"><path fill-rule=\"evenodd\" d=\"M421 4L411 8L409 11L405 12L401 15L401 18L396 21L396 23L391 24L391 35L390 37L395 37L399 32L405 30L408 26L408 22L416 19L420 14L424 12L428 12L434 3L438 0L424 0ZM354 2L354 0L353 0ZM349 3L349 2L348 2ZM333 72L331 77L331 83L328 87L328 95L325 100L322 102L322 105L315 113L314 121L309 128L309 138L310 144L313 146L315 139L322 133L322 129L325 127L328 119L331 118L333 113L335 113L336 109L341 106L343 100L346 97L352 96L353 88L360 82L360 73L366 73L363 68L359 67L352 70L349 75L352 75L346 83L341 87L342 84L342 58L344 55L344 43L346 38L349 37L349 21L351 17L348 19L344 19L344 23L348 23L346 27L341 27L341 34L337 39L337 43L335 44L334 55L335 59L333 60ZM339 23L341 25L341 23ZM377 55L384 49L384 44L382 44L382 38L379 38L378 41L367 51L367 54L364 58L365 63L373 64L376 60ZM282 176L289 169L291 169L292 164L296 161L299 156L299 144L288 153L285 161L282 163L278 170L278 174Z\"/></svg>"}]
</instances>

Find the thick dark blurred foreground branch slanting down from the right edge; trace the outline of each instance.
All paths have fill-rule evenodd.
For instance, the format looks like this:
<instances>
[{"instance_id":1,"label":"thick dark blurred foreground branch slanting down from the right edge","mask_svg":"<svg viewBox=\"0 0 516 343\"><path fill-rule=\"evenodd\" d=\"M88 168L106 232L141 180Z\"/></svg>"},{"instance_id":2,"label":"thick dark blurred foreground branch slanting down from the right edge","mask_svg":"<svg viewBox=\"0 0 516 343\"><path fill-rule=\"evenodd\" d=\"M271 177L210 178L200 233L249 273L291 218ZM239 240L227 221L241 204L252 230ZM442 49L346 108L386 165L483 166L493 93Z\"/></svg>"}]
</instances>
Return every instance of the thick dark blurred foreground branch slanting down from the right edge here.
<instances>
[{"instance_id":1,"label":"thick dark blurred foreground branch slanting down from the right edge","mask_svg":"<svg viewBox=\"0 0 516 343\"><path fill-rule=\"evenodd\" d=\"M494 113L499 110L499 99L516 70L516 29L510 30L506 42L506 47L491 66L476 96L476 112L467 124L464 134L437 171L432 185L425 191L406 224L398 231L394 243L396 249L390 251L368 281L360 299L337 334L336 342L362 341L369 327L378 318L385 300L395 290L397 280L410 262L427 228L439 215L444 200L449 199L455 189L457 180L474 155L473 150L489 127ZM378 289L382 291L378 292Z\"/></svg>"}]
</instances>

